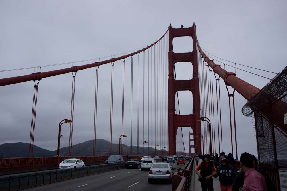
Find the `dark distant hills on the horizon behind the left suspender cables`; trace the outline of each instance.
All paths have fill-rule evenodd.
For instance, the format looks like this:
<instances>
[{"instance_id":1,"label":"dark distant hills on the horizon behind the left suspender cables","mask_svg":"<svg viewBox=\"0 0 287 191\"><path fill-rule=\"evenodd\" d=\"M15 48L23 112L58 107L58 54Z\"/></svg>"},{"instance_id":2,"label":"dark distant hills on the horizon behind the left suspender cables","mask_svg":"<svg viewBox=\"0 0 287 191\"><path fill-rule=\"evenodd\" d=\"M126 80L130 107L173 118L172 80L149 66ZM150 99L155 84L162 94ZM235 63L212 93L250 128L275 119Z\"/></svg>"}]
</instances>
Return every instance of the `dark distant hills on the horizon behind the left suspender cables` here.
<instances>
[{"instance_id":1,"label":"dark distant hills on the horizon behind the left suspender cables","mask_svg":"<svg viewBox=\"0 0 287 191\"><path fill-rule=\"evenodd\" d=\"M96 155L109 155L109 141L104 139L96 139ZM147 155L149 149L150 155L154 155L154 148L145 147L144 153ZM4 143L0 145L0 158L11 158L11 157L28 157L29 144L28 143ZM60 149L60 156L68 155L69 147L63 147ZM162 150L156 150L158 155L162 154ZM167 151L164 150L164 153ZM139 147L139 155L142 153L142 147ZM93 154L93 140L89 140L83 143L73 145L72 155L73 156L91 156ZM119 144L112 144L112 155L119 154ZM123 145L123 155L130 154L130 146ZM34 145L33 157L49 157L56 156L57 150L49 151L42 149ZM137 146L132 146L132 155L137 155Z\"/></svg>"}]
</instances>

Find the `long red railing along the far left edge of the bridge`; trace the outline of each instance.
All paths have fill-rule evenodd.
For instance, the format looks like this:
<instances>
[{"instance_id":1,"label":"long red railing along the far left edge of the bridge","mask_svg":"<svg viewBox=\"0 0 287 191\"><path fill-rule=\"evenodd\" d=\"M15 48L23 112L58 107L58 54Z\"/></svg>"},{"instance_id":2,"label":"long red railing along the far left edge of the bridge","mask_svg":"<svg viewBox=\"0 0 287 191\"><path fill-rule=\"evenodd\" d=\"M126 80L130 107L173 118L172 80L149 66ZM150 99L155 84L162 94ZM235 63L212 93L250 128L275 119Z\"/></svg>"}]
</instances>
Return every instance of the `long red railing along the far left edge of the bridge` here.
<instances>
[{"instance_id":1,"label":"long red railing along the far left edge of the bridge","mask_svg":"<svg viewBox=\"0 0 287 191\"><path fill-rule=\"evenodd\" d=\"M67 158L77 158L85 162L85 165L104 163L109 156L73 156L73 157L21 157L0 158L0 174L28 172L35 170L49 170L58 168L60 162ZM131 156L140 159L140 156Z\"/></svg>"}]
</instances>

